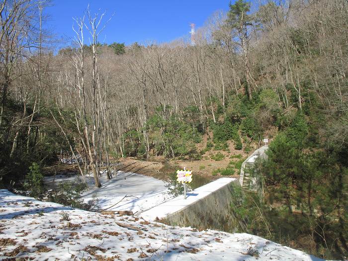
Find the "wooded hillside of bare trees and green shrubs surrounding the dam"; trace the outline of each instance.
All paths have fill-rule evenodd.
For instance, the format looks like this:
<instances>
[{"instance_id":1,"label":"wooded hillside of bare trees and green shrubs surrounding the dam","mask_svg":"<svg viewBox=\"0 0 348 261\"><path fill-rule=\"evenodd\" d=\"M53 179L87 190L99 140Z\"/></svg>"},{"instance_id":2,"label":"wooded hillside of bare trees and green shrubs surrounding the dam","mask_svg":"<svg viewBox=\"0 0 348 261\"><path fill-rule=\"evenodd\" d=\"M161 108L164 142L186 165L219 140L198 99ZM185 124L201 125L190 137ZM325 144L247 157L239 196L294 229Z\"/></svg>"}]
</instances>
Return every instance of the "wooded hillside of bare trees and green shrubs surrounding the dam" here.
<instances>
[{"instance_id":1,"label":"wooded hillside of bare trees and green shrubs surrounding the dam","mask_svg":"<svg viewBox=\"0 0 348 261\"><path fill-rule=\"evenodd\" d=\"M0 186L30 186L29 167L60 155L101 186L100 165L111 178L120 157L199 160L268 137L264 194L246 194L241 218L260 236L347 258L348 3L261 2L215 12L195 45L101 43L108 14L81 10L73 44L55 50L47 2L1 0Z\"/></svg>"}]
</instances>

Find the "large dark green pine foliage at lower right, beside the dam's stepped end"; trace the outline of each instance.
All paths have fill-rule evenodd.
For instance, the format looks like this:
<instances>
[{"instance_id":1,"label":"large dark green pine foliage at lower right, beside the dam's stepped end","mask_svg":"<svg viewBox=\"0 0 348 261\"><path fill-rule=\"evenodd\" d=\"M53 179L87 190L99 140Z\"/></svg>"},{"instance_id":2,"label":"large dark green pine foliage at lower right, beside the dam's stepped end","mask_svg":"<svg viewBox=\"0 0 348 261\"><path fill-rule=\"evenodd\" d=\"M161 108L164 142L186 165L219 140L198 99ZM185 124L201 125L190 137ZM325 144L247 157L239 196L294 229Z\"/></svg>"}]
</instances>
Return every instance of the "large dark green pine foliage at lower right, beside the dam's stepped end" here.
<instances>
[{"instance_id":1,"label":"large dark green pine foliage at lower right, beside the dam's stepped end","mask_svg":"<svg viewBox=\"0 0 348 261\"><path fill-rule=\"evenodd\" d=\"M296 139L297 135L306 138L306 125L303 115L297 115L291 129L280 132L269 144L267 160L256 163L255 171L262 178L262 187L268 195L259 201L265 204L261 211L265 211L263 216L271 233L282 244L296 242L307 235L306 238L312 240L311 248L304 245L307 251L324 259L341 260L347 253L341 246L348 236L348 215L344 212L348 206L348 170L340 166L342 150L335 152L328 149L327 144L313 150ZM293 136L294 133L297 134ZM347 162L347 154L345 156ZM258 201L251 205L255 202ZM281 207L270 207L277 204ZM294 207L296 212L292 211ZM252 209L251 206L248 209ZM267 232L262 229L255 230L264 236ZM333 244L337 247L328 247Z\"/></svg>"}]
</instances>

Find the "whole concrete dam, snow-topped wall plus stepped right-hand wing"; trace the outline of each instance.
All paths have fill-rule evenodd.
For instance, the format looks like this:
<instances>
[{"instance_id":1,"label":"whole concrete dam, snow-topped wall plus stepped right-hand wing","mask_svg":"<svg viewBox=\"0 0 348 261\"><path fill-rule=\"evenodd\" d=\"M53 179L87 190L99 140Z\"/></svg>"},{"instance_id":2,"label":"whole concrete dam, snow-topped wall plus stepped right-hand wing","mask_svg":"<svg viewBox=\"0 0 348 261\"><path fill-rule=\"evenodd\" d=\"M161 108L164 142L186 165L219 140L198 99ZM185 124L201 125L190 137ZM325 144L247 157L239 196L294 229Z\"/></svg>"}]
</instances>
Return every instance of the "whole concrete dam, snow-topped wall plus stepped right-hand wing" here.
<instances>
[{"instance_id":1,"label":"whole concrete dam, snow-topped wall plus stepped right-hand wing","mask_svg":"<svg viewBox=\"0 0 348 261\"><path fill-rule=\"evenodd\" d=\"M141 212L138 216L149 221L162 221L173 226L215 229L226 232L246 231L245 220L237 217L242 202L236 189L260 190L259 177L252 174L257 160L266 159L268 146L262 146L242 164L240 177L222 177L188 192L187 198L177 196Z\"/></svg>"}]
</instances>

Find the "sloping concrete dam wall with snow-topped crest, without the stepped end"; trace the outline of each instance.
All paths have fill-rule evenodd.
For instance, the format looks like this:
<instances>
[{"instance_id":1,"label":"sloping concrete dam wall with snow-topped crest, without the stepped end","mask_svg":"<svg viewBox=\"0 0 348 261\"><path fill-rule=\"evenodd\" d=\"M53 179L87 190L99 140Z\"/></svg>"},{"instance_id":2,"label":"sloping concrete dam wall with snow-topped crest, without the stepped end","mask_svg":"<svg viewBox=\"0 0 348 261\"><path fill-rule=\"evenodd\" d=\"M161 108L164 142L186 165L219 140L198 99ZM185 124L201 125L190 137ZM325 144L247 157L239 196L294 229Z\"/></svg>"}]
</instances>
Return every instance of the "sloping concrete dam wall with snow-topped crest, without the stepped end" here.
<instances>
[{"instance_id":1,"label":"sloping concrete dam wall with snow-topped crest, without the stepped end","mask_svg":"<svg viewBox=\"0 0 348 261\"><path fill-rule=\"evenodd\" d=\"M234 232L241 225L236 220L232 204L233 186L239 186L238 179L222 177L198 187L165 203L139 214L145 220L165 220L177 226L191 226L203 229L220 229Z\"/></svg>"}]
</instances>

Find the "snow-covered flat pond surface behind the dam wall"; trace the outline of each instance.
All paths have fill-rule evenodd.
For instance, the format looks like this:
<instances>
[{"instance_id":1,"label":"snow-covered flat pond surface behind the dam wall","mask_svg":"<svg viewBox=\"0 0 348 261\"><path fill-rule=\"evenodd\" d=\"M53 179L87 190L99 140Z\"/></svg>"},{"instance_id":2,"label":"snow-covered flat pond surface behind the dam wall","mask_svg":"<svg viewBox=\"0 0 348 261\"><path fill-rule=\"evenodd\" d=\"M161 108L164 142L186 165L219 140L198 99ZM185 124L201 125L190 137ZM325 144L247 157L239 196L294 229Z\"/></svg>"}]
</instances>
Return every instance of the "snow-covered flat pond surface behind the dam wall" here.
<instances>
[{"instance_id":1,"label":"snow-covered flat pond surface behind the dam wall","mask_svg":"<svg viewBox=\"0 0 348 261\"><path fill-rule=\"evenodd\" d=\"M70 177L56 175L55 178L50 176L45 177L45 183L49 187L53 187L53 179L57 184L62 181L74 180L76 177L76 175ZM97 206L99 209L130 210L137 213L172 198L168 194L164 181L141 174L118 172L116 177L107 179L106 174L103 173L100 177L102 185L100 188L94 186L92 175L86 176L86 182L89 189L83 193L82 198L88 201L95 195L98 198ZM113 207L109 208L110 206Z\"/></svg>"}]
</instances>

